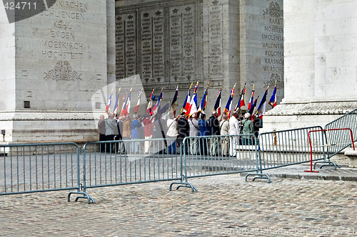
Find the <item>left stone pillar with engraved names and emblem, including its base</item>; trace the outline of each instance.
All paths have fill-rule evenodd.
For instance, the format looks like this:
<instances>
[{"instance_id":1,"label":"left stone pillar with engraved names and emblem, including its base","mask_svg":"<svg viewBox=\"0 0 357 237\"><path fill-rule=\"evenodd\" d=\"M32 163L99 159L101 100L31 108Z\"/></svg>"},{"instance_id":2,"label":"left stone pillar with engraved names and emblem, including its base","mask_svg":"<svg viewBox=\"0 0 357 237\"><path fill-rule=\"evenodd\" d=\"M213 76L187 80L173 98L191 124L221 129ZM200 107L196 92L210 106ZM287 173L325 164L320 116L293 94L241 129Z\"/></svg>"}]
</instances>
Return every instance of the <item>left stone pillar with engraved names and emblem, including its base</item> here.
<instances>
[{"instance_id":1,"label":"left stone pillar with engraved names and emblem, including its base","mask_svg":"<svg viewBox=\"0 0 357 237\"><path fill-rule=\"evenodd\" d=\"M96 138L91 97L107 85L110 65L106 1L56 1L36 16L6 21L2 12L1 41L9 46L0 79L6 142Z\"/></svg>"}]
</instances>

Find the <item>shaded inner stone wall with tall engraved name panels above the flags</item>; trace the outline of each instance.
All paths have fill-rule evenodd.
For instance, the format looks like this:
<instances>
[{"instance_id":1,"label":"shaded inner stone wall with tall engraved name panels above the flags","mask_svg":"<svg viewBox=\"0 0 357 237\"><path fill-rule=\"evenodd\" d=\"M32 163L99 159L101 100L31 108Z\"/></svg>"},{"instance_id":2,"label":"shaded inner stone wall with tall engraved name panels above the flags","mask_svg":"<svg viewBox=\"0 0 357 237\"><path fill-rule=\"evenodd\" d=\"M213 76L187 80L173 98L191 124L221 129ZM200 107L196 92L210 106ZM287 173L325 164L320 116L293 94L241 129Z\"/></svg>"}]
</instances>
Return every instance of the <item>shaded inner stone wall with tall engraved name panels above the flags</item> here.
<instances>
[{"instance_id":1,"label":"shaded inner stone wall with tall engraved name panels above the flags","mask_svg":"<svg viewBox=\"0 0 357 237\"><path fill-rule=\"evenodd\" d=\"M116 1L116 79L139 74L146 92L176 85L183 102L199 81L208 81L208 113L223 86L221 105L235 83L235 106L247 83L246 101L278 83L283 97L283 1Z\"/></svg>"}]
</instances>

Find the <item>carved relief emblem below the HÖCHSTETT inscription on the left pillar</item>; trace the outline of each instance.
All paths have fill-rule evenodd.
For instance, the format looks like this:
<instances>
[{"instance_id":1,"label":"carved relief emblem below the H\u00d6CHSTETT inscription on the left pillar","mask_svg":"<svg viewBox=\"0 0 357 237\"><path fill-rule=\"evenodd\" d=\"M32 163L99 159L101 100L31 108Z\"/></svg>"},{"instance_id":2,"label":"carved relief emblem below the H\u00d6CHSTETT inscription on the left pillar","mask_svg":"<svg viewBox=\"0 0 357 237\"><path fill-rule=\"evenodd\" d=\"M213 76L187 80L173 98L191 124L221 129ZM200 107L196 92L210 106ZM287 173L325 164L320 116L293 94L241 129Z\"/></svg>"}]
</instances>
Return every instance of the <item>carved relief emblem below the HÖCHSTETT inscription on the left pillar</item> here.
<instances>
[{"instance_id":1,"label":"carved relief emblem below the H\u00d6CHSTETT inscription on the left pillar","mask_svg":"<svg viewBox=\"0 0 357 237\"><path fill-rule=\"evenodd\" d=\"M76 71L72 71L71 65L68 61L58 61L54 70L50 70L49 73L45 72L44 79L52 80L82 80L81 74Z\"/></svg>"}]
</instances>

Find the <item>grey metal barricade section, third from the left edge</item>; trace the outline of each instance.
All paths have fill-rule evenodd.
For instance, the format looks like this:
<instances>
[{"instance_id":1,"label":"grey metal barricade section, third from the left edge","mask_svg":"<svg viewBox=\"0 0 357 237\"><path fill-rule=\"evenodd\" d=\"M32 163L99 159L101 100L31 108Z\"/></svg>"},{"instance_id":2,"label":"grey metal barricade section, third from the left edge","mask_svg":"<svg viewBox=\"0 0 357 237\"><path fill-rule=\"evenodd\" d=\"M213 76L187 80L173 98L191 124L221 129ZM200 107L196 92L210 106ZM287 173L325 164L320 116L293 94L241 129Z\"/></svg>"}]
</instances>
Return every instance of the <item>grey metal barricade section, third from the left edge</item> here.
<instances>
[{"instance_id":1,"label":"grey metal barricade section, third from the left edge","mask_svg":"<svg viewBox=\"0 0 357 237\"><path fill-rule=\"evenodd\" d=\"M254 135L186 137L181 144L184 177L258 172Z\"/></svg>"}]
</instances>

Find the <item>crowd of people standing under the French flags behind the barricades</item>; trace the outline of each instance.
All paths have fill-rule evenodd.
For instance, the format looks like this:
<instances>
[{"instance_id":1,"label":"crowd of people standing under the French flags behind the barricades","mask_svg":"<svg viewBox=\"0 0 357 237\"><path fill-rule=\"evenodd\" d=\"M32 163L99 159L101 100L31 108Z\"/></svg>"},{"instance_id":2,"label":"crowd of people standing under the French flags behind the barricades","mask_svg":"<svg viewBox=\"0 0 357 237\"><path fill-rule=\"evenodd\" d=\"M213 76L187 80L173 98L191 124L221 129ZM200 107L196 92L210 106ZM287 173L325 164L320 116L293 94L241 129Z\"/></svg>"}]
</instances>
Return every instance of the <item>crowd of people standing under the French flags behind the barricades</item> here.
<instances>
[{"instance_id":1,"label":"crowd of people standing under the French flags behind the barricades","mask_svg":"<svg viewBox=\"0 0 357 237\"><path fill-rule=\"evenodd\" d=\"M239 117L238 112L233 112L230 119L225 114L218 119L216 111L212 112L208 120L204 113L201 113L199 118L197 114L187 118L185 112L181 112L177 117L169 113L166 117L164 120L161 115L156 115L153 122L150 115L139 117L134 114L133 119L129 115L114 117L109 114L106 119L101 115L98 122L99 140L123 141L119 144L101 143L101 152L138 153L144 149L145 154L176 154L176 147L180 147L180 154L185 152L236 156L238 145L253 144L253 137L250 135L258 137L258 130L261 127L260 118L256 116L251 120L249 113ZM218 137L219 135L241 136ZM183 145L185 137L191 139ZM145 139L144 146L139 139ZM127 144L130 144L129 147Z\"/></svg>"}]
</instances>

